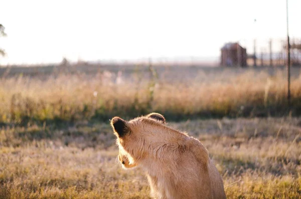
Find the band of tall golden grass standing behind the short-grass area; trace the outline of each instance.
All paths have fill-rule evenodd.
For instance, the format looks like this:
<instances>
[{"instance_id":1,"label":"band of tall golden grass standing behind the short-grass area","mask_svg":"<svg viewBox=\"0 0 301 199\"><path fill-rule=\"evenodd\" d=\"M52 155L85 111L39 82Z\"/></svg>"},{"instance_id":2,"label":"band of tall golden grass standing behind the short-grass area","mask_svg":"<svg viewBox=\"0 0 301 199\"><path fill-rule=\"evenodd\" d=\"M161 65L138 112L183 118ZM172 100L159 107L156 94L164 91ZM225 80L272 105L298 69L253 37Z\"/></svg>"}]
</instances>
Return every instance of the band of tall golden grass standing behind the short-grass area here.
<instances>
[{"instance_id":1,"label":"band of tall golden grass standing behind the short-grass area","mask_svg":"<svg viewBox=\"0 0 301 199\"><path fill-rule=\"evenodd\" d=\"M154 71L150 70L152 73ZM155 73L156 74L156 73ZM301 114L301 76L291 80L292 107L287 106L285 74L248 71L214 81L197 78L169 81L132 73L15 76L0 80L0 122L76 121L112 116L134 117L157 111L171 119ZM185 74L183 74L185 76ZM45 78L45 77L44 77Z\"/></svg>"}]
</instances>

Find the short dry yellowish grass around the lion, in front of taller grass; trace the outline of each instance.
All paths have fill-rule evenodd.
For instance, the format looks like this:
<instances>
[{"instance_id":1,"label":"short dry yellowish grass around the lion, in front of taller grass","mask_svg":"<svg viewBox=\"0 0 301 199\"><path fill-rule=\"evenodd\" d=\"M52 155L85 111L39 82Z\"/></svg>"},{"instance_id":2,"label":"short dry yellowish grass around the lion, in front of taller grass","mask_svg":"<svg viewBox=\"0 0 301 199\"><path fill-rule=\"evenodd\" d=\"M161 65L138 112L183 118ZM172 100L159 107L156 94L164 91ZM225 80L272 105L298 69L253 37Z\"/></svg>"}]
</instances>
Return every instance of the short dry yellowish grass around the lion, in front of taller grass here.
<instances>
[{"instance_id":1,"label":"short dry yellowish grass around the lion, in front of taller grass","mask_svg":"<svg viewBox=\"0 0 301 199\"><path fill-rule=\"evenodd\" d=\"M168 119L168 118L167 118ZM228 198L301 197L301 120L187 120L223 176ZM3 127L0 198L149 198L141 169L122 170L108 123ZM200 184L201 185L201 184Z\"/></svg>"}]
</instances>

